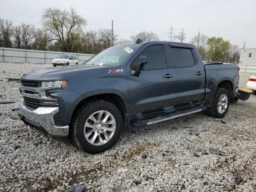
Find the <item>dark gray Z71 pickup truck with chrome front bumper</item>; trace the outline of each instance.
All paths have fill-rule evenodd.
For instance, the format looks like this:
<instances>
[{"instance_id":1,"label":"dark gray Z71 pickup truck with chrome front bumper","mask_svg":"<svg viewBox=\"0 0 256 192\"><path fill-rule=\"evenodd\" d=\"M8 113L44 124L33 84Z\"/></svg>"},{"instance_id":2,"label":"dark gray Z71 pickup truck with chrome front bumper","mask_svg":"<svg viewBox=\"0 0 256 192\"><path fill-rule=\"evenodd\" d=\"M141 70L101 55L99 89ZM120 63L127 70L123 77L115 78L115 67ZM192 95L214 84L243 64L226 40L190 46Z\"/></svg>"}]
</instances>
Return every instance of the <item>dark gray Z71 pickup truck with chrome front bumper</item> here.
<instances>
[{"instance_id":1,"label":"dark gray Z71 pickup truck with chrome front bumper","mask_svg":"<svg viewBox=\"0 0 256 192\"><path fill-rule=\"evenodd\" d=\"M20 81L25 124L98 153L131 127L204 110L224 117L237 100L239 68L203 63L192 44L137 40L81 65L26 73Z\"/></svg>"}]
</instances>

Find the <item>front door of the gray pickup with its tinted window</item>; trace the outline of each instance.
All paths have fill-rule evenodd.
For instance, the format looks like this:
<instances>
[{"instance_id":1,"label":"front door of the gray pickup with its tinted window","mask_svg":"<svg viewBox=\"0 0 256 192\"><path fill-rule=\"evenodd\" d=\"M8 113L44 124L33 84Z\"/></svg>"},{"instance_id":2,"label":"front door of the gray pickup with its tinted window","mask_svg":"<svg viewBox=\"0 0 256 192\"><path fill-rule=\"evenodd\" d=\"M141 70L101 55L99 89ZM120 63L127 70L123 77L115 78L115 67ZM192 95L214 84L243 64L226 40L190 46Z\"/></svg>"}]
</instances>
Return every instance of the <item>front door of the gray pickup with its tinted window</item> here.
<instances>
[{"instance_id":1,"label":"front door of the gray pickup with its tinted window","mask_svg":"<svg viewBox=\"0 0 256 192\"><path fill-rule=\"evenodd\" d=\"M136 72L134 66L146 63ZM132 118L152 115L172 108L173 69L167 67L162 44L142 48L131 64L126 66Z\"/></svg>"}]
</instances>

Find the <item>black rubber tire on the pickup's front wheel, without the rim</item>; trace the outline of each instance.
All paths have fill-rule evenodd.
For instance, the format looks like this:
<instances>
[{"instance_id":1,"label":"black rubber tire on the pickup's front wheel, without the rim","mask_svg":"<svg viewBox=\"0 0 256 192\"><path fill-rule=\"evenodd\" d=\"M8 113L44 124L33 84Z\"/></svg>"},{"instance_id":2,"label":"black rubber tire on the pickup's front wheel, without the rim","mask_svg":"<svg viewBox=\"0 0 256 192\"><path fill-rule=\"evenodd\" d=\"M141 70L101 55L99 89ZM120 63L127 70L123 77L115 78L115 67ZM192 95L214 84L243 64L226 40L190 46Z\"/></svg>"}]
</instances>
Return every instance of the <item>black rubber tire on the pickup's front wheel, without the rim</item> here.
<instances>
[{"instance_id":1,"label":"black rubber tire on the pickup's front wheel, without the rim","mask_svg":"<svg viewBox=\"0 0 256 192\"><path fill-rule=\"evenodd\" d=\"M116 120L116 130L114 135L106 144L100 146L90 144L84 136L84 124L86 120L91 114L97 112L98 110L106 110L110 112ZM76 146L82 147L88 153L96 154L111 148L117 142L122 132L122 128L123 120L118 108L110 102L104 100L94 100L83 104L75 112L71 124L71 139Z\"/></svg>"}]
</instances>

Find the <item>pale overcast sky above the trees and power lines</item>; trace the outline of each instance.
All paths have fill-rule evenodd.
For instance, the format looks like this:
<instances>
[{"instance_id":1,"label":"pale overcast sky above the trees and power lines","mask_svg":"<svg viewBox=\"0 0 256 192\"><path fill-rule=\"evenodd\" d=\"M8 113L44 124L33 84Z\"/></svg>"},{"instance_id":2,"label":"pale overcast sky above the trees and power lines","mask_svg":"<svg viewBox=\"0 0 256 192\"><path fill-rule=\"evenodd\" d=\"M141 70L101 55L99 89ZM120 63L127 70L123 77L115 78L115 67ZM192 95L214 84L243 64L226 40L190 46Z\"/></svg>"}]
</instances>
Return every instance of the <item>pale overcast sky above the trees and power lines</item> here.
<instances>
[{"instance_id":1,"label":"pale overcast sky above the trees and power lines","mask_svg":"<svg viewBox=\"0 0 256 192\"><path fill-rule=\"evenodd\" d=\"M256 0L0 0L0 18L13 23L30 22L40 27L47 7L75 7L88 22L87 29L111 28L119 38L129 39L141 31L155 32L160 40L170 40L184 28L185 42L193 36L218 36L246 48L256 48Z\"/></svg>"}]
</instances>

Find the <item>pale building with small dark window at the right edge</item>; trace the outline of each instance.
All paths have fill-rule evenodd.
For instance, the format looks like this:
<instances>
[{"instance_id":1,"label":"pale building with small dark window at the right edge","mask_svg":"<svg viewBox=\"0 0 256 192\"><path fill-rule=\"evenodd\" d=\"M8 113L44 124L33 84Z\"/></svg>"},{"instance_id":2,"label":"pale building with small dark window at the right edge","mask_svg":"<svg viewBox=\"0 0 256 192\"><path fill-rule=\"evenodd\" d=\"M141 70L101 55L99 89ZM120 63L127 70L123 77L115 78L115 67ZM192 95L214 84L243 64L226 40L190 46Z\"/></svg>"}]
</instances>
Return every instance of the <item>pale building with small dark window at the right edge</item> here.
<instances>
[{"instance_id":1,"label":"pale building with small dark window at the right edge","mask_svg":"<svg viewBox=\"0 0 256 192\"><path fill-rule=\"evenodd\" d=\"M255 49L241 49L240 64L256 65L256 48Z\"/></svg>"}]
</instances>

